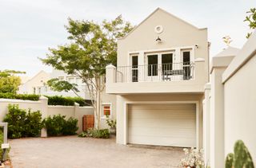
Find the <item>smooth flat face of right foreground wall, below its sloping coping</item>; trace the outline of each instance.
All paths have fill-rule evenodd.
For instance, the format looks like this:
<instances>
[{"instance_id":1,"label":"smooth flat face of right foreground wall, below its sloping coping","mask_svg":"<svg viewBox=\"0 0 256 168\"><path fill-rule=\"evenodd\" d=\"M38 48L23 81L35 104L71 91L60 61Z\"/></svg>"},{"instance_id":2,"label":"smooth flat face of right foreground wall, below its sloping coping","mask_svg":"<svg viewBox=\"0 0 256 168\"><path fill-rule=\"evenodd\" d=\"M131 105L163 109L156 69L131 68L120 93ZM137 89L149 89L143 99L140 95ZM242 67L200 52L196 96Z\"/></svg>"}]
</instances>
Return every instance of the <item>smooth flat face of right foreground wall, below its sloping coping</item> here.
<instances>
[{"instance_id":1,"label":"smooth flat face of right foreground wall, below its sloping coping","mask_svg":"<svg viewBox=\"0 0 256 168\"><path fill-rule=\"evenodd\" d=\"M233 151L238 139L246 144L256 161L256 55L226 81L225 154Z\"/></svg>"}]
</instances>

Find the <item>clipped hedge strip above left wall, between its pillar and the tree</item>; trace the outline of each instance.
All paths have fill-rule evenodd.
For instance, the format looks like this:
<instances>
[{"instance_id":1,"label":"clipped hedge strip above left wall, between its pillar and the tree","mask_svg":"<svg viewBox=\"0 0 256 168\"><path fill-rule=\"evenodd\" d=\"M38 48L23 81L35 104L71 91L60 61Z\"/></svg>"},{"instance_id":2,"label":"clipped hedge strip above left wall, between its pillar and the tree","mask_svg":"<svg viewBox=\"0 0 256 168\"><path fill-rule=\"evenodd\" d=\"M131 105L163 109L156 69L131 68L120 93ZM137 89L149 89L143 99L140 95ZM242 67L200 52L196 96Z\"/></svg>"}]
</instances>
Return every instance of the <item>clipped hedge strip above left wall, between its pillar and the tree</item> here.
<instances>
[{"instance_id":1,"label":"clipped hedge strip above left wall, between its pillar and the tree","mask_svg":"<svg viewBox=\"0 0 256 168\"><path fill-rule=\"evenodd\" d=\"M62 97L62 96L46 96L48 98L48 105L62 105L62 106L74 106L74 103L78 103L80 106L90 105L90 100L83 100L80 97Z\"/></svg>"}]
</instances>

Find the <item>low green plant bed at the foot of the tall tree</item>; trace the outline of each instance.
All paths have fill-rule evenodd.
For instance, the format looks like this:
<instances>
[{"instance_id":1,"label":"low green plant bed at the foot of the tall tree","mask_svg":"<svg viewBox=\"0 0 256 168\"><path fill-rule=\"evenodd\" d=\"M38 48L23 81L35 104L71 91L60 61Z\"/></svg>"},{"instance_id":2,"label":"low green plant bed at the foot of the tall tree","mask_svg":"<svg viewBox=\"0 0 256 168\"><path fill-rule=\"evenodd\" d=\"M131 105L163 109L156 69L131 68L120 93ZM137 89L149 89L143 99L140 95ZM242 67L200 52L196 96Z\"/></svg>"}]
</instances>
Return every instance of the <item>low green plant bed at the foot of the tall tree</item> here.
<instances>
[{"instance_id":1,"label":"low green plant bed at the foot of the tall tree","mask_svg":"<svg viewBox=\"0 0 256 168\"><path fill-rule=\"evenodd\" d=\"M109 139L110 131L108 129L94 129L90 128L87 131L82 132L78 137L92 137L95 139Z\"/></svg>"}]
</instances>

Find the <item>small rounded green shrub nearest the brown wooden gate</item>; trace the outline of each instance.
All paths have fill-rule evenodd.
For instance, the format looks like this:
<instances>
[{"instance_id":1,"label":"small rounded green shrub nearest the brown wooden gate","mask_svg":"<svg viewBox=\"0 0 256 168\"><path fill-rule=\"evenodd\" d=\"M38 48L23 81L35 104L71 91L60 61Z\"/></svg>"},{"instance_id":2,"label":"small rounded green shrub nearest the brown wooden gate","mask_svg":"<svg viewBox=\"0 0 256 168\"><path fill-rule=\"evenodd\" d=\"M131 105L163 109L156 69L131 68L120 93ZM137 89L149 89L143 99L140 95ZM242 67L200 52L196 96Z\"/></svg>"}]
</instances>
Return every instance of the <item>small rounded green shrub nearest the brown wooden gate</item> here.
<instances>
[{"instance_id":1,"label":"small rounded green shrub nearest the brown wooden gate","mask_svg":"<svg viewBox=\"0 0 256 168\"><path fill-rule=\"evenodd\" d=\"M63 126L63 135L75 135L78 131L78 119L70 117Z\"/></svg>"}]
</instances>

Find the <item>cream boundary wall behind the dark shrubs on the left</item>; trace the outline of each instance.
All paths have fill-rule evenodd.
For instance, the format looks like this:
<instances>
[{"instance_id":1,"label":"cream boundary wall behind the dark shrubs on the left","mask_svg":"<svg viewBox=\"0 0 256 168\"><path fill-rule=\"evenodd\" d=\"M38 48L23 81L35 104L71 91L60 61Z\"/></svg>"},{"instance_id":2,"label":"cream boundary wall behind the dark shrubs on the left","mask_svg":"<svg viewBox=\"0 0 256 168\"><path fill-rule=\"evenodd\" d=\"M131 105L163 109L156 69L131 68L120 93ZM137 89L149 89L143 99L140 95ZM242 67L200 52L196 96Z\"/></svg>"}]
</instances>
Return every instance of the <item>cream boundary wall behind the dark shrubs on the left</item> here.
<instances>
[{"instance_id":1,"label":"cream boundary wall behind the dark shrubs on the left","mask_svg":"<svg viewBox=\"0 0 256 168\"><path fill-rule=\"evenodd\" d=\"M48 99L41 96L38 101L0 99L0 121L4 119L8 112L9 104L18 104L19 108L26 110L31 108L32 111L40 111L42 118L58 114L66 115L66 118L74 117L78 119L78 133L82 132L82 116L94 115L93 107L79 107L79 104L75 104L74 106L48 106Z\"/></svg>"}]
</instances>

